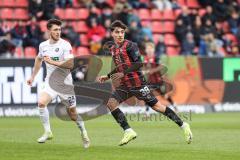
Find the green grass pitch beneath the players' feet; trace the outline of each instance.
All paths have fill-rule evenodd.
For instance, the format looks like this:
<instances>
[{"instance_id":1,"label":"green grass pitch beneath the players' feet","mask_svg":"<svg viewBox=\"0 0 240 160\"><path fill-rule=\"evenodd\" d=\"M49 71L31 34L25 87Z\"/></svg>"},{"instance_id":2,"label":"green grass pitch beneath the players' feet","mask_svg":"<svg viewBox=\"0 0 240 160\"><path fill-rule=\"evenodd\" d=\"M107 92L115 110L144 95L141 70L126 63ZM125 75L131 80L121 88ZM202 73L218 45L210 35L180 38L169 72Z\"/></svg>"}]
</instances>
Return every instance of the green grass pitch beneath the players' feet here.
<instances>
[{"instance_id":1,"label":"green grass pitch beneath the players' feet","mask_svg":"<svg viewBox=\"0 0 240 160\"><path fill-rule=\"evenodd\" d=\"M43 131L39 118L0 118L0 160L240 159L240 113L193 114L190 145L167 120L130 124L138 138L119 147L123 132L111 116L87 121L91 147L86 150L71 122L51 118L54 139L38 144L36 139Z\"/></svg>"}]
</instances>

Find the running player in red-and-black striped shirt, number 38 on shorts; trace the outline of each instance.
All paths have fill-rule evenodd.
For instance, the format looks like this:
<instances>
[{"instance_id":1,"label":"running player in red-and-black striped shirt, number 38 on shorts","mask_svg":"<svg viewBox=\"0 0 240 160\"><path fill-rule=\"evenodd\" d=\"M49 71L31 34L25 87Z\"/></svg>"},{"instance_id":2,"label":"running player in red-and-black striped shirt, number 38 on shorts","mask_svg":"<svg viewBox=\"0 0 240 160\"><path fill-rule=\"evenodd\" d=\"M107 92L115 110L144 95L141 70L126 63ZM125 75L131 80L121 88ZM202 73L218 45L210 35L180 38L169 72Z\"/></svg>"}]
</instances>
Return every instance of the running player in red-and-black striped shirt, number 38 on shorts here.
<instances>
[{"instance_id":1,"label":"running player in red-and-black striped shirt, number 38 on shorts","mask_svg":"<svg viewBox=\"0 0 240 160\"><path fill-rule=\"evenodd\" d=\"M111 24L110 29L114 43L109 45L108 49L116 68L108 75L99 77L98 81L103 83L111 79L115 83L120 80L120 85L116 87L107 103L112 116L124 130L124 136L119 145L125 145L137 137L137 133L129 126L124 113L118 108L120 103L132 96L145 101L152 109L174 121L183 129L187 143L191 143L192 132L189 125L183 122L170 108L162 105L146 85L141 73L143 64L138 47L135 43L124 39L127 26L116 20Z\"/></svg>"}]
</instances>

